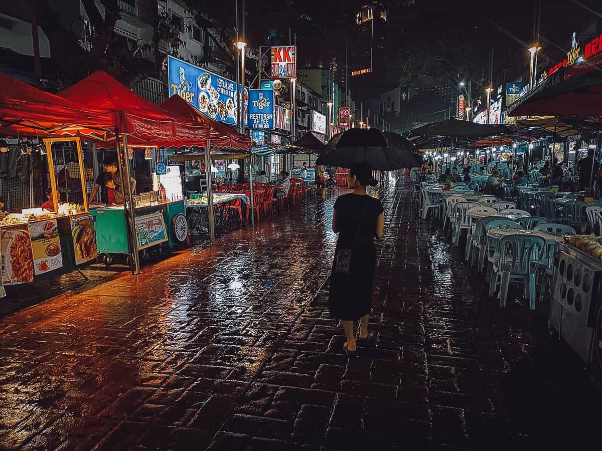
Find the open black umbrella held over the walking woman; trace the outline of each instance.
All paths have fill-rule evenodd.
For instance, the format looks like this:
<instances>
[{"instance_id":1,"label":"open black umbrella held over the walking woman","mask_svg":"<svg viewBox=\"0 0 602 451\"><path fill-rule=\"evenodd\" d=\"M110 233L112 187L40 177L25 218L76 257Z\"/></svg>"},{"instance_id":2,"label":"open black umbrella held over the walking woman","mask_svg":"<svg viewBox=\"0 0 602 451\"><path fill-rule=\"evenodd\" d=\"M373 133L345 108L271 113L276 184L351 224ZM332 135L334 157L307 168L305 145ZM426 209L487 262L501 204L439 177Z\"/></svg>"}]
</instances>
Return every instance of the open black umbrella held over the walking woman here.
<instances>
[{"instance_id":1,"label":"open black umbrella held over the walking woman","mask_svg":"<svg viewBox=\"0 0 602 451\"><path fill-rule=\"evenodd\" d=\"M332 137L329 149L320 155L316 165L351 168L365 162L374 169L394 171L420 167L420 155L414 144L397 133L377 129L349 129Z\"/></svg>"}]
</instances>

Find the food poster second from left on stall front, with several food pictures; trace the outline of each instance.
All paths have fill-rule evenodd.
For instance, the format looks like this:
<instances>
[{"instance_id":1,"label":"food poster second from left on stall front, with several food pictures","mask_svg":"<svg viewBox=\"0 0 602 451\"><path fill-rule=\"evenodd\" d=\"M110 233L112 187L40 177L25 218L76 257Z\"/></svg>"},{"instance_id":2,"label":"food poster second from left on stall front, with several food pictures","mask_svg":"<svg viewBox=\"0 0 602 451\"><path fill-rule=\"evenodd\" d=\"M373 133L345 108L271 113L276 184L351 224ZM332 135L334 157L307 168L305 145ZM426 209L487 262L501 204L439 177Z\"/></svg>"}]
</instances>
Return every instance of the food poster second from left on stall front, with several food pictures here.
<instances>
[{"instance_id":1,"label":"food poster second from left on stall front, with several food pictures","mask_svg":"<svg viewBox=\"0 0 602 451\"><path fill-rule=\"evenodd\" d=\"M57 220L48 219L48 221L32 222L27 228L33 253L34 274L40 275L63 268Z\"/></svg>"}]
</instances>

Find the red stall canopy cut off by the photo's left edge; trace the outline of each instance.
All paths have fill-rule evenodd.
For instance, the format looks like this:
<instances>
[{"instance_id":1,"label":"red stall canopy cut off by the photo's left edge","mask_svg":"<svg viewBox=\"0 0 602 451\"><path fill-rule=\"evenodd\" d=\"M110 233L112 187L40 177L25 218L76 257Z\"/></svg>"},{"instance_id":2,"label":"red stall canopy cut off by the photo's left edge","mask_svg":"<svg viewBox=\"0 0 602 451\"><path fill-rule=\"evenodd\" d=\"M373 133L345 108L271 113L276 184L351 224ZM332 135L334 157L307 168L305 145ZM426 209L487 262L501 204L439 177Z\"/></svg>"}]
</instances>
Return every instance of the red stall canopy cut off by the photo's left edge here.
<instances>
[{"instance_id":1,"label":"red stall canopy cut off by the photo's left edge","mask_svg":"<svg viewBox=\"0 0 602 451\"><path fill-rule=\"evenodd\" d=\"M90 135L104 138L114 114L81 105L0 73L0 133L4 135Z\"/></svg>"}]
</instances>

